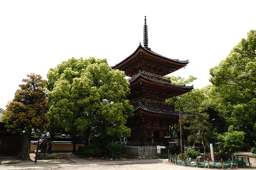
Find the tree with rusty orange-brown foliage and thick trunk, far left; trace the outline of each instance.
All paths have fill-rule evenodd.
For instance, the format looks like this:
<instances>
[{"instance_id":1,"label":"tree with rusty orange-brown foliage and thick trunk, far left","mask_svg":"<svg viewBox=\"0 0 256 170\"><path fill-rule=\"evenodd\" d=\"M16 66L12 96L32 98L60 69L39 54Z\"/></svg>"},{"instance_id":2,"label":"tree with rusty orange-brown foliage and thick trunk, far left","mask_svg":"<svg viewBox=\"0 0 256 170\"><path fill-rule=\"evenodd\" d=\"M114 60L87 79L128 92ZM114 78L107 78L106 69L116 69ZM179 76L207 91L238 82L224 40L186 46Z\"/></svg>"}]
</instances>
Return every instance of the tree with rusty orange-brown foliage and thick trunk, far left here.
<instances>
[{"instance_id":1,"label":"tree with rusty orange-brown foliage and thick trunk, far left","mask_svg":"<svg viewBox=\"0 0 256 170\"><path fill-rule=\"evenodd\" d=\"M19 85L20 89L15 92L14 99L6 106L3 112L2 121L6 122L5 127L11 132L21 133L25 137L22 151L18 157L23 160L30 160L30 139L32 133L38 131L42 123L42 130L48 125L49 104L45 102L45 80L40 75L33 73L27 75L28 79L23 79L25 84ZM42 105L44 106L44 116L42 120Z\"/></svg>"}]
</instances>

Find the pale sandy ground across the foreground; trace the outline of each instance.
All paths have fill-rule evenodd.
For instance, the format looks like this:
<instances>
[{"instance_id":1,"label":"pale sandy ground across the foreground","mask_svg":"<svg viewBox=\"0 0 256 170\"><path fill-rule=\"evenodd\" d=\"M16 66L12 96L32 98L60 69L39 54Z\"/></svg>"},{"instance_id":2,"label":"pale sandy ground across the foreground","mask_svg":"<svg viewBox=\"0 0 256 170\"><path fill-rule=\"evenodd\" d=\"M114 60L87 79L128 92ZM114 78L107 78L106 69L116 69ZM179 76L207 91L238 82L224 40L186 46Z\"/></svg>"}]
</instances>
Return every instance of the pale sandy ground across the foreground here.
<instances>
[{"instance_id":1,"label":"pale sandy ground across the foreground","mask_svg":"<svg viewBox=\"0 0 256 170\"><path fill-rule=\"evenodd\" d=\"M249 152L238 152L237 156L249 157L252 167L240 169L256 169L255 157ZM38 160L36 165L33 162L22 162L12 165L0 165L0 170L202 170L202 168L176 165L168 162L168 159L159 159L160 162L147 162L150 160L126 160L126 161L109 161L94 162L85 160L72 154L62 153L60 155L52 155L54 159ZM152 160L153 161L153 160Z\"/></svg>"}]
</instances>

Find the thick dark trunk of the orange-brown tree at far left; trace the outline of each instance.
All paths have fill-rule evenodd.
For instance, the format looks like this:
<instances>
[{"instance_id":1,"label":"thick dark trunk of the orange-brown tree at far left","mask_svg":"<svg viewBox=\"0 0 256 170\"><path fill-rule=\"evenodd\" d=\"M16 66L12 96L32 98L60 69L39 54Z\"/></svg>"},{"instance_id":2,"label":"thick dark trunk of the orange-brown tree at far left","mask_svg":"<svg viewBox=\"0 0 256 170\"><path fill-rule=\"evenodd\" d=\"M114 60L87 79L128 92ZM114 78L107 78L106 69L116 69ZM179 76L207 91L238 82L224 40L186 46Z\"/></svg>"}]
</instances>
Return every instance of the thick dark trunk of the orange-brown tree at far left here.
<instances>
[{"instance_id":1,"label":"thick dark trunk of the orange-brown tree at far left","mask_svg":"<svg viewBox=\"0 0 256 170\"><path fill-rule=\"evenodd\" d=\"M17 154L17 157L20 157L22 160L31 160L29 153L30 153L30 141L31 136L23 137L22 148L20 152Z\"/></svg>"}]
</instances>

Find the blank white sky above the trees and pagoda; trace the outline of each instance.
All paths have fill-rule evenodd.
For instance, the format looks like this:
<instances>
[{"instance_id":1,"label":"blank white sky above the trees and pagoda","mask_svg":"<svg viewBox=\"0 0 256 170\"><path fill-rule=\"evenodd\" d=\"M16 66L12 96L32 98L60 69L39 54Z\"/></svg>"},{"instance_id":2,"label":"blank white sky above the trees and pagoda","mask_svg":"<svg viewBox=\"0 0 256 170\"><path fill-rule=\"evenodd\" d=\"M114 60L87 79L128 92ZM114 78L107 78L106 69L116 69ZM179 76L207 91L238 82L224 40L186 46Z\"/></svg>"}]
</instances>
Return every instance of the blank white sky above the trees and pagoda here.
<instances>
[{"instance_id":1,"label":"blank white sky above the trees and pagoda","mask_svg":"<svg viewBox=\"0 0 256 170\"><path fill-rule=\"evenodd\" d=\"M75 58L107 58L110 66L143 44L173 59L189 60L170 75L197 78L202 88L209 69L256 29L254 0L243 1L0 1L0 107L29 73L46 79L49 68ZM190 84L190 85L192 85Z\"/></svg>"}]
</instances>

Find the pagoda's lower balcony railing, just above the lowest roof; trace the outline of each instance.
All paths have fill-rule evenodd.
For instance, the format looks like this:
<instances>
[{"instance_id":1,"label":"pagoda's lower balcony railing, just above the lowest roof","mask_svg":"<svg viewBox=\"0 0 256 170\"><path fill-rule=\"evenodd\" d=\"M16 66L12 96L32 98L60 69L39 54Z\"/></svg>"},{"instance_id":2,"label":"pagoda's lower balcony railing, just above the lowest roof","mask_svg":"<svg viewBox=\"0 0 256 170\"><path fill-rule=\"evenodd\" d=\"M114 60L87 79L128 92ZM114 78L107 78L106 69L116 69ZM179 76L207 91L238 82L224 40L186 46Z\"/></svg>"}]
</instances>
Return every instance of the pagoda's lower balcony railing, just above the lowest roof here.
<instances>
[{"instance_id":1,"label":"pagoda's lower balcony railing, just above the lowest roof","mask_svg":"<svg viewBox=\"0 0 256 170\"><path fill-rule=\"evenodd\" d=\"M161 107L168 107L168 108L173 108L174 109L174 104L173 103L166 103L161 100L152 100L152 99L145 99L145 98L140 98L136 100L132 100L129 102L130 105L133 105L136 107L139 104L142 105L147 105L147 106L161 106Z\"/></svg>"}]
</instances>

